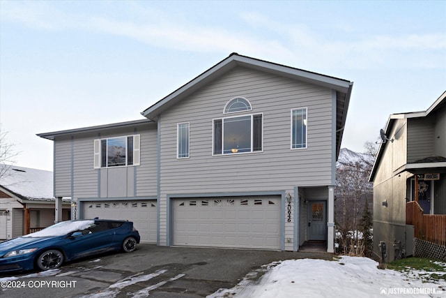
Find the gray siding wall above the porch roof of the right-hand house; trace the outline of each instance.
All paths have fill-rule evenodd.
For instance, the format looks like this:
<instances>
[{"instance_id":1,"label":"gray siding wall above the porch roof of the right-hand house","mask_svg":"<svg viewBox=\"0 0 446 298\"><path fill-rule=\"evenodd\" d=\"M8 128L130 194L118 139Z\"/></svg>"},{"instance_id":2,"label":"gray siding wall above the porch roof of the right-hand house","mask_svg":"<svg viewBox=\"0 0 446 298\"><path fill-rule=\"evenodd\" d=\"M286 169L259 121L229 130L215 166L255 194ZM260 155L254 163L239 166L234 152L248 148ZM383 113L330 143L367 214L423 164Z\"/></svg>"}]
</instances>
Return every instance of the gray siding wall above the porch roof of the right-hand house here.
<instances>
[{"instance_id":1,"label":"gray siding wall above the porch roof of the right-hand house","mask_svg":"<svg viewBox=\"0 0 446 298\"><path fill-rule=\"evenodd\" d=\"M434 125L430 118L408 119L407 161L412 163L434 154Z\"/></svg>"}]
</instances>

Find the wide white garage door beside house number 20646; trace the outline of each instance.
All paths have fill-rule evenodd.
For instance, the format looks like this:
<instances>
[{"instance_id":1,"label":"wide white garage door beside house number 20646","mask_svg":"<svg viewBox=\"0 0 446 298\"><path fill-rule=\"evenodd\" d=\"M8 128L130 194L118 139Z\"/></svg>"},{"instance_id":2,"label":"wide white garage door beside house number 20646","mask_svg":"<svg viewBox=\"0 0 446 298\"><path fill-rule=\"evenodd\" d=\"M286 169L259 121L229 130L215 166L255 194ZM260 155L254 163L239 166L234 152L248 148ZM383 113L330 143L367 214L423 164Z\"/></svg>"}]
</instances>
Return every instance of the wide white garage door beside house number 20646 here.
<instances>
[{"instance_id":1,"label":"wide white garage door beside house number 20646","mask_svg":"<svg viewBox=\"0 0 446 298\"><path fill-rule=\"evenodd\" d=\"M280 197L173 201L173 244L280 249Z\"/></svg>"}]
</instances>

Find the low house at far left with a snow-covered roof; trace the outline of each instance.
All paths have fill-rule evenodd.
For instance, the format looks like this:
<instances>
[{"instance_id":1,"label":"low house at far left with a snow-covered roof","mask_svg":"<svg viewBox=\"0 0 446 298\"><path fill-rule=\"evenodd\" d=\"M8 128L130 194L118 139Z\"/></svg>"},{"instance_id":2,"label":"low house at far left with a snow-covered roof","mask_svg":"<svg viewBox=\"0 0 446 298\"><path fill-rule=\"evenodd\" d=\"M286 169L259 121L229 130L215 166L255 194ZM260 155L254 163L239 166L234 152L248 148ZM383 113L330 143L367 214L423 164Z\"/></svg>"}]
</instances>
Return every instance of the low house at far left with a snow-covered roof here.
<instances>
[{"instance_id":1,"label":"low house at far left with a snow-covered roof","mask_svg":"<svg viewBox=\"0 0 446 298\"><path fill-rule=\"evenodd\" d=\"M36 232L54 224L53 173L0 164L0 240ZM70 218L70 202L61 205L63 220Z\"/></svg>"}]
</instances>

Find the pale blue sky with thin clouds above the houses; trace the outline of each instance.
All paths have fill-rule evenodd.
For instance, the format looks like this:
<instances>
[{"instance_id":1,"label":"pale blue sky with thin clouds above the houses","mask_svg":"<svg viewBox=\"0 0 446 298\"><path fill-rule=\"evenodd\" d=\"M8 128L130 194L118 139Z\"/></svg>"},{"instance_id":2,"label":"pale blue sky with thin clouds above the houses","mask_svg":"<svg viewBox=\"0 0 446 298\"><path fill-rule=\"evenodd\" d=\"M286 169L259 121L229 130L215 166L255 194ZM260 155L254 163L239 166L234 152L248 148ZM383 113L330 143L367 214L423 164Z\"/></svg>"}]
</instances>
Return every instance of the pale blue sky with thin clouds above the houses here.
<instances>
[{"instance_id":1,"label":"pale blue sky with thin clouds above the houses","mask_svg":"<svg viewBox=\"0 0 446 298\"><path fill-rule=\"evenodd\" d=\"M0 0L0 123L16 165L36 133L142 119L232 52L354 82L342 147L446 90L446 1ZM92 156L93 160L93 156Z\"/></svg>"}]
</instances>

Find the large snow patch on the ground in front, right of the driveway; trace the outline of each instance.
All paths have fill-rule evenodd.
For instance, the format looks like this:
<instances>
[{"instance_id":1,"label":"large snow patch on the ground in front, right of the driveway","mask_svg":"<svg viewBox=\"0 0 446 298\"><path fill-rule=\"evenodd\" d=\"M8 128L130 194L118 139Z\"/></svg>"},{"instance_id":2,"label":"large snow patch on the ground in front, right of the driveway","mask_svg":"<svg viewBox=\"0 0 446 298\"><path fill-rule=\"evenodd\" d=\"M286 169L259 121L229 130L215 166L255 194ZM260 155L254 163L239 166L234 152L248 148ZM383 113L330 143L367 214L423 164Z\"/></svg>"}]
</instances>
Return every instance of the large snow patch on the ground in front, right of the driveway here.
<instances>
[{"instance_id":1,"label":"large snow patch on the ground in front, right of the driveway","mask_svg":"<svg viewBox=\"0 0 446 298\"><path fill-rule=\"evenodd\" d=\"M236 287L220 289L208 298L446 297L445 281L423 283L422 271L405 274L377 266L369 258L348 256L333 261L285 260L255 283L245 278Z\"/></svg>"}]
</instances>

